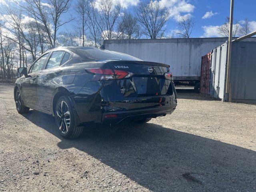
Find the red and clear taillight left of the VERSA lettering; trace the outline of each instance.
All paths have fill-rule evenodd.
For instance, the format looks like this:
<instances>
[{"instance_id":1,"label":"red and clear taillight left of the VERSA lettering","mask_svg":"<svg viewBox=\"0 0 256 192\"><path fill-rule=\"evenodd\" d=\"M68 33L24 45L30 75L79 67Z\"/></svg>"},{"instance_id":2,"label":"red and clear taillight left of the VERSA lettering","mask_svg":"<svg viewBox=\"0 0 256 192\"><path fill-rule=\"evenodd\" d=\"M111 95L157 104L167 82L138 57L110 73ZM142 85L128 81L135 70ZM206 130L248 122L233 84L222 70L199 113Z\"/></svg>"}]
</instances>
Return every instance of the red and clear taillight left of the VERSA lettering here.
<instances>
[{"instance_id":1,"label":"red and clear taillight left of the VERSA lettering","mask_svg":"<svg viewBox=\"0 0 256 192\"><path fill-rule=\"evenodd\" d=\"M102 68L89 68L85 69L88 73L94 74L91 81L106 81L130 78L133 73L122 70L102 69Z\"/></svg>"}]
</instances>

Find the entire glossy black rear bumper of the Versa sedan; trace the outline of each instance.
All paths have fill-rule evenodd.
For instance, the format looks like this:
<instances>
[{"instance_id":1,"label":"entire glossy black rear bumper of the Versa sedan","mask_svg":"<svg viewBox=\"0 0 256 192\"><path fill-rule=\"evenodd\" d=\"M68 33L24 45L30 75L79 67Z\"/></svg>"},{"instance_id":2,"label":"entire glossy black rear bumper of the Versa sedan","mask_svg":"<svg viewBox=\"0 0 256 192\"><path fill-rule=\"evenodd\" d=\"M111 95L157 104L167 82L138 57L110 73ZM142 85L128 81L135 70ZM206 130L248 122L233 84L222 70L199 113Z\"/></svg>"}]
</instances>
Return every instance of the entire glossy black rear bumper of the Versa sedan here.
<instances>
[{"instance_id":1,"label":"entire glossy black rear bumper of the Versa sedan","mask_svg":"<svg viewBox=\"0 0 256 192\"><path fill-rule=\"evenodd\" d=\"M171 114L177 106L172 83L172 94L147 97L124 97L116 82L89 82L76 95L70 96L76 125L92 123L116 124L129 119L155 118ZM105 118L115 114L116 117Z\"/></svg>"}]
</instances>

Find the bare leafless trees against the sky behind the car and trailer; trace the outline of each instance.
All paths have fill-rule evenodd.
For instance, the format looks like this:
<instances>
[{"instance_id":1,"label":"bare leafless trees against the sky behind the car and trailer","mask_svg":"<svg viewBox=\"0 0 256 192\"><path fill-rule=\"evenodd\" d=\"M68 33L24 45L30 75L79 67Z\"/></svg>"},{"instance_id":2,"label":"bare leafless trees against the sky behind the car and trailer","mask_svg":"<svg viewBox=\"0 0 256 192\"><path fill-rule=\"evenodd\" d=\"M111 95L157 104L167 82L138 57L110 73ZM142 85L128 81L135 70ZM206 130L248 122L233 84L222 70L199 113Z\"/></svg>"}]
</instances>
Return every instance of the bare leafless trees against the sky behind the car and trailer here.
<instances>
[{"instance_id":1,"label":"bare leafless trees against the sky behind the car and trailer","mask_svg":"<svg viewBox=\"0 0 256 192\"><path fill-rule=\"evenodd\" d=\"M180 16L174 34L166 36L170 9L152 0L141 1L132 12L114 0L14 0L0 6L0 79L16 78L18 67L30 66L57 46L99 47L108 39L190 38L195 25L192 17ZM64 30L68 25L73 30ZM223 26L220 32L226 36L228 23Z\"/></svg>"}]
</instances>

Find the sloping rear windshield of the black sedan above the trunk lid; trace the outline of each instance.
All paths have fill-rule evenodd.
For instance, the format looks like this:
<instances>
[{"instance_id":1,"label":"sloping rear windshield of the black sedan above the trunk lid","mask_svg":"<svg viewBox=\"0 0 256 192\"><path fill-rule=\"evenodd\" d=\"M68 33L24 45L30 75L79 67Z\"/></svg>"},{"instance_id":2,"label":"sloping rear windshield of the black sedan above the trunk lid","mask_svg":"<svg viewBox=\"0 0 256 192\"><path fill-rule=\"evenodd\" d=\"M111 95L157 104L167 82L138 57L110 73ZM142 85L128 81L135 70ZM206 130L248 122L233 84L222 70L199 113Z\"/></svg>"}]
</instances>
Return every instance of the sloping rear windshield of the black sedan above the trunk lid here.
<instances>
[{"instance_id":1,"label":"sloping rear windshield of the black sedan above the trunk lid","mask_svg":"<svg viewBox=\"0 0 256 192\"><path fill-rule=\"evenodd\" d=\"M79 50L79 54L82 54L82 56L85 56L88 59L92 59L92 60L142 61L136 57L130 56L128 54L116 52L116 51L97 49L97 48L86 48L86 47L81 47L77 49Z\"/></svg>"}]
</instances>

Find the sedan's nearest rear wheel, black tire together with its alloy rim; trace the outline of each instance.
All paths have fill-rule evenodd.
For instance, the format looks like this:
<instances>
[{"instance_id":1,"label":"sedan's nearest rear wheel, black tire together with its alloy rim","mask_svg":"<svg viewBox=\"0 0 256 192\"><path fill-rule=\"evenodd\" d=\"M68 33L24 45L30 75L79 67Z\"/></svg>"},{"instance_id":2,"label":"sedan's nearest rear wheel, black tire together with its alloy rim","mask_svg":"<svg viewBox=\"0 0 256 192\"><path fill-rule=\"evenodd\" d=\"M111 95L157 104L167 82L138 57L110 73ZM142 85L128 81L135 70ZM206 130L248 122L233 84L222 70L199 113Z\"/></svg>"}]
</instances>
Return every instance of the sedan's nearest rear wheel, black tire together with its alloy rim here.
<instances>
[{"instance_id":1,"label":"sedan's nearest rear wheel, black tire together with its alloy rim","mask_svg":"<svg viewBox=\"0 0 256 192\"><path fill-rule=\"evenodd\" d=\"M58 99L54 116L57 128L62 137L74 139L80 136L83 126L76 126L73 107L68 96L61 96Z\"/></svg>"}]
</instances>

